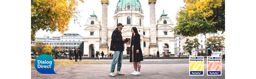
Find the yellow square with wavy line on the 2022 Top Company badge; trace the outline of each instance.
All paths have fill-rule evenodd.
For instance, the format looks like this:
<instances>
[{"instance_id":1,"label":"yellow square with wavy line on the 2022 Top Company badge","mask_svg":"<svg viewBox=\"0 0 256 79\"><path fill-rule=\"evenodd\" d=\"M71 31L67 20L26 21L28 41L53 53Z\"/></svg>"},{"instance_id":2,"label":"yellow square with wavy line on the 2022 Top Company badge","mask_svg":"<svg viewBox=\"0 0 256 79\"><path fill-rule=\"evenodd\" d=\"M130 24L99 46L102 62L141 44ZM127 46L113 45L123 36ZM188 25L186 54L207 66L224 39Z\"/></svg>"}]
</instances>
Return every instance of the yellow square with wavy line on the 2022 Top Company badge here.
<instances>
[{"instance_id":1,"label":"yellow square with wavy line on the 2022 Top Company badge","mask_svg":"<svg viewBox=\"0 0 256 79\"><path fill-rule=\"evenodd\" d=\"M204 65L203 65L204 62L190 62L190 71L194 71L194 70L203 70L204 68Z\"/></svg>"}]
</instances>

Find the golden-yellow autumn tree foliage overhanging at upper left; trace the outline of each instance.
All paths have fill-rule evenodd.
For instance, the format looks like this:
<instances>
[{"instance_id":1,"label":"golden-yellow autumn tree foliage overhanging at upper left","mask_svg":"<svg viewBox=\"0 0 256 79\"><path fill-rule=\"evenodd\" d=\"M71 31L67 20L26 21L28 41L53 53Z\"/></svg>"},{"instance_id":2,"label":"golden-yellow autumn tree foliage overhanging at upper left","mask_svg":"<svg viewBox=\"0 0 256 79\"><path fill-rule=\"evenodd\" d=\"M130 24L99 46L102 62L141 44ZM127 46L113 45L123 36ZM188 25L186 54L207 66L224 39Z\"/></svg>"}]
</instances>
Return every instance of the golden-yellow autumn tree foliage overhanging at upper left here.
<instances>
[{"instance_id":1,"label":"golden-yellow autumn tree foliage overhanging at upper left","mask_svg":"<svg viewBox=\"0 0 256 79\"><path fill-rule=\"evenodd\" d=\"M83 0L79 2L84 3ZM35 33L40 29L64 34L68 30L70 19L74 18L75 23L81 17L77 9L79 2L76 0L31 0L31 41L35 40Z\"/></svg>"}]
</instances>

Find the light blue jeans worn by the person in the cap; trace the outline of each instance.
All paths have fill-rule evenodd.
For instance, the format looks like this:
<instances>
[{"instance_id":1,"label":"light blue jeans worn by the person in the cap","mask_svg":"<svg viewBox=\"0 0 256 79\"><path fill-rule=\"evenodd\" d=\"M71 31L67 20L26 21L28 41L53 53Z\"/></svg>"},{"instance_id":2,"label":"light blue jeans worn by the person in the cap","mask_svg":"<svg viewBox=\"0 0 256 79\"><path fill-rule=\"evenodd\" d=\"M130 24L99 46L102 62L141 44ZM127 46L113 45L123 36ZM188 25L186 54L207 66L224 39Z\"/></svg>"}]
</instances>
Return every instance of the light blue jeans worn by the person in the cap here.
<instances>
[{"instance_id":1,"label":"light blue jeans worn by the person in the cap","mask_svg":"<svg viewBox=\"0 0 256 79\"><path fill-rule=\"evenodd\" d=\"M114 72L116 63L117 63L117 71L120 71L122 66L122 61L123 61L123 51L115 51L110 72Z\"/></svg>"}]
</instances>

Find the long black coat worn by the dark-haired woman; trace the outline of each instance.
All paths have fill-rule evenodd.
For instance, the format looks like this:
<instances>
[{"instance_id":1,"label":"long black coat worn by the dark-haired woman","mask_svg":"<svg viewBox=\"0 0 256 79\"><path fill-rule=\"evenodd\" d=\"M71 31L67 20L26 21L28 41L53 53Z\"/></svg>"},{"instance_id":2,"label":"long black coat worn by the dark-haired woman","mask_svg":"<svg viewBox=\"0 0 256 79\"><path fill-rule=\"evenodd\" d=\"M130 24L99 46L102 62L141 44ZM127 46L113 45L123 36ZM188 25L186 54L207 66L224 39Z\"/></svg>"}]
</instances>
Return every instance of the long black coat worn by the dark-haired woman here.
<instances>
[{"instance_id":1,"label":"long black coat worn by the dark-haired woman","mask_svg":"<svg viewBox=\"0 0 256 79\"><path fill-rule=\"evenodd\" d=\"M140 34L135 34L133 37L135 44L133 45L133 52L132 52L132 44L131 44L131 49L130 49L130 62L132 62L132 58L134 62L140 62L143 61L143 56L142 56L142 50L140 47ZM131 41L132 43L133 41ZM139 50L139 53L136 53L136 50ZM132 57L132 53L134 53L134 57Z\"/></svg>"}]
</instances>

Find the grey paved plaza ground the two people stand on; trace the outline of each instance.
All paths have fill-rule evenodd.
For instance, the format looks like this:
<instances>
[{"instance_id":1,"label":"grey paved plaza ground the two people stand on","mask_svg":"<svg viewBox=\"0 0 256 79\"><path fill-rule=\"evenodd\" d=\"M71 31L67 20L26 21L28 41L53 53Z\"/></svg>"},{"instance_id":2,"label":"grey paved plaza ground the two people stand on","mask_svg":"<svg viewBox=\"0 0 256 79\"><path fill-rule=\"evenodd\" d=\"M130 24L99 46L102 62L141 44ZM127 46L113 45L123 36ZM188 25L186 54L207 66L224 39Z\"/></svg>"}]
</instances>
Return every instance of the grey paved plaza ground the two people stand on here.
<instances>
[{"instance_id":1,"label":"grey paved plaza ground the two people stand on","mask_svg":"<svg viewBox=\"0 0 256 79\"><path fill-rule=\"evenodd\" d=\"M206 58L204 59L204 76L189 76L189 59L144 59L141 61L141 75L130 75L134 71L133 63L128 59L122 61L121 72L124 76L109 76L112 60L54 60L54 71L57 74L41 74L34 66L35 59L31 59L31 78L204 78L204 79L224 79L225 78L225 60L222 60L222 76L207 76ZM117 65L116 65L117 67ZM116 72L116 68L115 68ZM116 74L114 72L114 74Z\"/></svg>"}]
</instances>

